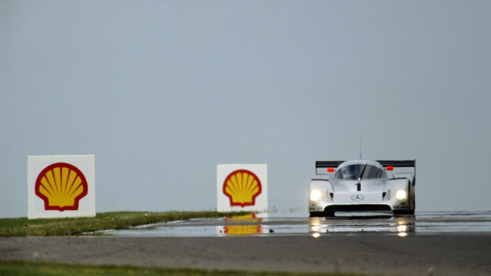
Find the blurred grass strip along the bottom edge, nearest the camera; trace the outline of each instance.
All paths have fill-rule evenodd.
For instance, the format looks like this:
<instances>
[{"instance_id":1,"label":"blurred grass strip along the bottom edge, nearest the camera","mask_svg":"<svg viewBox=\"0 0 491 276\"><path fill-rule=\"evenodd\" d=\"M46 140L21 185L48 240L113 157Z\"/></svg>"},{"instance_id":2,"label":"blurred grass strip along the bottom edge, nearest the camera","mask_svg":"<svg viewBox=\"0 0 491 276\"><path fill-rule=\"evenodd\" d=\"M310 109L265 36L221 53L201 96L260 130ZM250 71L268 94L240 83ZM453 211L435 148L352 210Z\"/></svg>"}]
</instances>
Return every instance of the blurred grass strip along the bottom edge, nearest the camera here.
<instances>
[{"instance_id":1,"label":"blurred grass strip along the bottom edge, nearest the camera","mask_svg":"<svg viewBox=\"0 0 491 276\"><path fill-rule=\"evenodd\" d=\"M144 268L134 266L89 266L52 263L0 261L0 275L59 276L59 275L145 275L145 276L362 276L360 274L309 274L281 272L205 271L195 269Z\"/></svg>"}]
</instances>

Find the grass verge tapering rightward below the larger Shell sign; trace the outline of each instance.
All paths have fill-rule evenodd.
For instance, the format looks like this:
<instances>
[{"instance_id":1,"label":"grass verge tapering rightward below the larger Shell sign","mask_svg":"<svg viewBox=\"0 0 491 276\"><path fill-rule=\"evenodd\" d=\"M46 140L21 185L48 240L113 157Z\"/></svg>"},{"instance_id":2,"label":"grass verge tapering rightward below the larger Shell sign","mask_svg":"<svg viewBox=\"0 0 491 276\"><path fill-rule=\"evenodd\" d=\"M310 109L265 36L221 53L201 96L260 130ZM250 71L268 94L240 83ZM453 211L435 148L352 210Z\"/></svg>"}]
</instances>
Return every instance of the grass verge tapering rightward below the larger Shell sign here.
<instances>
[{"instance_id":1,"label":"grass verge tapering rightward below the larger Shell sign","mask_svg":"<svg viewBox=\"0 0 491 276\"><path fill-rule=\"evenodd\" d=\"M104 212L94 218L0 219L0 237L77 236L83 232L125 229L129 226L194 218L240 216L246 212L169 211L169 212Z\"/></svg>"}]
</instances>

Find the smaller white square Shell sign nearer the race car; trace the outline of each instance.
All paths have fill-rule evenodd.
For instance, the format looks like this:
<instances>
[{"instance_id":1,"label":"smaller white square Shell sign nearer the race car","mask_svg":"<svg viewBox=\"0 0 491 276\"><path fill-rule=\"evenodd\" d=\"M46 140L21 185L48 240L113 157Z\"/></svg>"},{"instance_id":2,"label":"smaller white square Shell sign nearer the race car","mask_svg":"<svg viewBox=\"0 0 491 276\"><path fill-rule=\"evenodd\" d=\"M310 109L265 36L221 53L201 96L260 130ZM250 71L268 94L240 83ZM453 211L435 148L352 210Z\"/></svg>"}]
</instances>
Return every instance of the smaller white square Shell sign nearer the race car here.
<instances>
[{"instance_id":1,"label":"smaller white square Shell sign nearer the race car","mask_svg":"<svg viewBox=\"0 0 491 276\"><path fill-rule=\"evenodd\" d=\"M217 210L268 211L266 164L217 165Z\"/></svg>"}]
</instances>

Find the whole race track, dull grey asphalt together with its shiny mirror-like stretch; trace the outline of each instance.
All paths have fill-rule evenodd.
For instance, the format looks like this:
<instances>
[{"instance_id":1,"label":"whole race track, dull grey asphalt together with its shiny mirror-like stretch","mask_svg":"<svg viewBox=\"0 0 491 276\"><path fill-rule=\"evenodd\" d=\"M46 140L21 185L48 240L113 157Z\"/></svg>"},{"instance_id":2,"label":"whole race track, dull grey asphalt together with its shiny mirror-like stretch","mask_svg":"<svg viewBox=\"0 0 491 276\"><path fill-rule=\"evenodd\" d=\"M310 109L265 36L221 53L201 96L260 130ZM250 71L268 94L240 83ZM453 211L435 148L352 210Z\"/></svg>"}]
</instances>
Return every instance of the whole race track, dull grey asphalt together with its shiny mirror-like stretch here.
<instances>
[{"instance_id":1,"label":"whole race track, dull grey asphalt together with its shiny mirror-like stretch","mask_svg":"<svg viewBox=\"0 0 491 276\"><path fill-rule=\"evenodd\" d=\"M143 228L108 232L107 237L2 238L0 259L207 270L491 275L491 212L227 218Z\"/></svg>"}]
</instances>

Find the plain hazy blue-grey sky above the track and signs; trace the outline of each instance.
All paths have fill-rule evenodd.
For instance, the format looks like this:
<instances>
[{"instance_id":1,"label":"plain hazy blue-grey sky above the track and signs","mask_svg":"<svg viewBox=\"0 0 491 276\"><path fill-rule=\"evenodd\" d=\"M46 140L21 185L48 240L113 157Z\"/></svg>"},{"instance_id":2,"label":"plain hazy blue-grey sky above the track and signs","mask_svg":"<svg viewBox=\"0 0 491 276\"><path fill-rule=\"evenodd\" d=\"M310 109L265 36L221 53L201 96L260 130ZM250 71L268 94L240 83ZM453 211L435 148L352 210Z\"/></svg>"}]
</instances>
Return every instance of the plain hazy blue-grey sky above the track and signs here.
<instances>
[{"instance_id":1,"label":"plain hazy blue-grey sky above the track and signs","mask_svg":"<svg viewBox=\"0 0 491 276\"><path fill-rule=\"evenodd\" d=\"M416 212L491 210L490 1L0 1L0 217L27 156L94 154L96 210L210 210L268 164L416 159Z\"/></svg>"}]
</instances>

